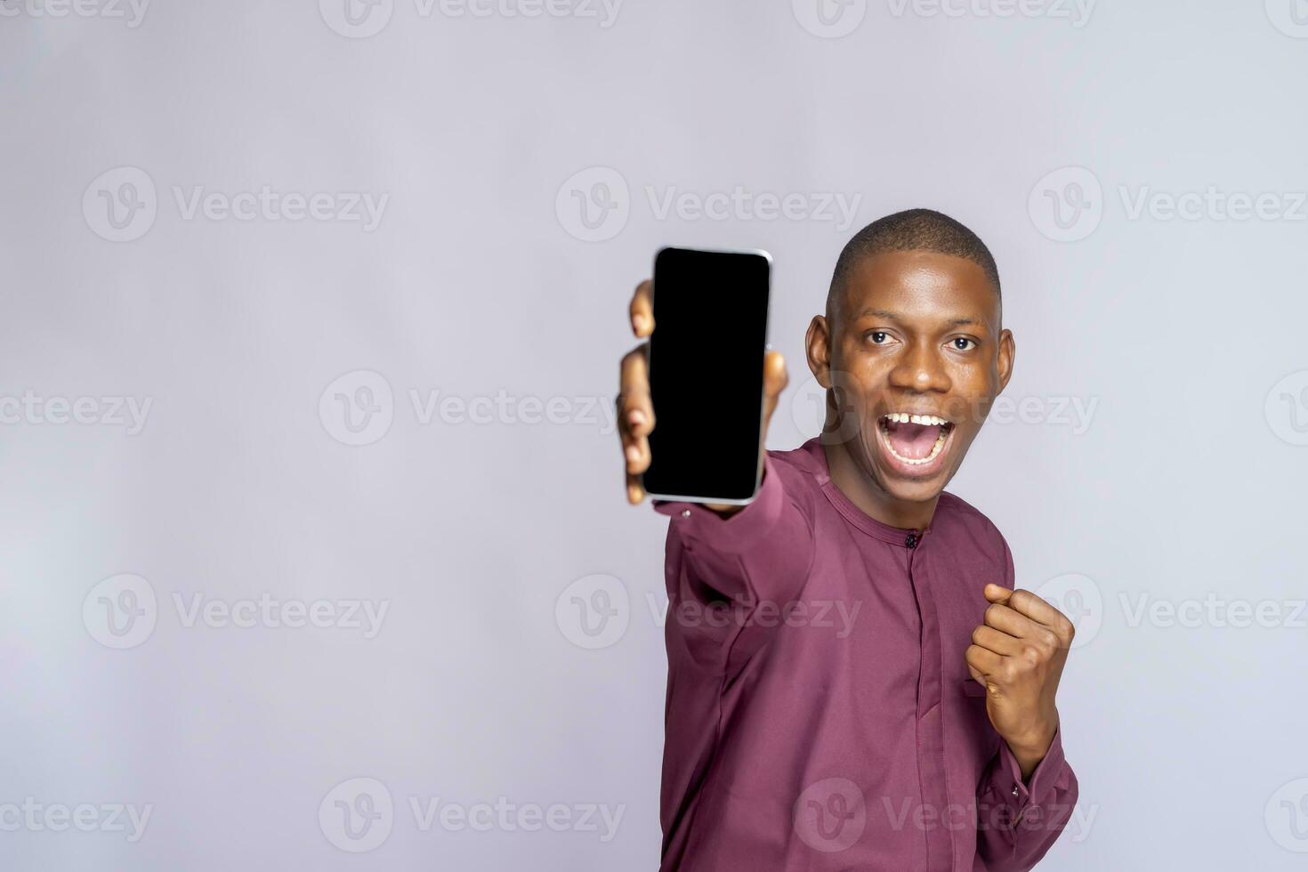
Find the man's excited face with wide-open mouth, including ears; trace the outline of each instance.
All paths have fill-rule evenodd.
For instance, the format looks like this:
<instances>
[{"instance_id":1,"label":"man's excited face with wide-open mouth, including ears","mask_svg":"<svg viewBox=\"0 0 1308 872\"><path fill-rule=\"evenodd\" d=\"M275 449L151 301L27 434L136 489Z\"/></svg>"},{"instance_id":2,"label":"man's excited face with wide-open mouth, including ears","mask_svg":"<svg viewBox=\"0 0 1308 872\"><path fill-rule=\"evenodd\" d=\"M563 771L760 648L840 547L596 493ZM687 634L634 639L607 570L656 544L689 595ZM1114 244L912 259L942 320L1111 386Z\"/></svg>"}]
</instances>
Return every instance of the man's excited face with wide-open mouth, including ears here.
<instances>
[{"instance_id":1,"label":"man's excited face with wide-open mouth, including ears","mask_svg":"<svg viewBox=\"0 0 1308 872\"><path fill-rule=\"evenodd\" d=\"M814 319L808 357L836 388L836 439L887 495L921 502L961 465L1008 383L1014 341L980 265L895 251L857 265L831 320Z\"/></svg>"}]
</instances>

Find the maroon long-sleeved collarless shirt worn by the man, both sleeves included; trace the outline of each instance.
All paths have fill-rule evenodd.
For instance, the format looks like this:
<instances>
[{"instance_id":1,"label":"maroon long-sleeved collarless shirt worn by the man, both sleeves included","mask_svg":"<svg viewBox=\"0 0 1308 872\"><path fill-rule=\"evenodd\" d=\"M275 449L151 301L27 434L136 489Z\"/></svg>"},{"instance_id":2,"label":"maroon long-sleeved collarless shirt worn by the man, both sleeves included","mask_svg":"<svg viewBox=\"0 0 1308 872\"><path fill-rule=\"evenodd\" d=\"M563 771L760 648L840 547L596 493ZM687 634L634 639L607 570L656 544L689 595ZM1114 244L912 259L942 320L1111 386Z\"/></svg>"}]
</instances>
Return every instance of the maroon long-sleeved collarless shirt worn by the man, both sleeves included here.
<instances>
[{"instance_id":1,"label":"maroon long-sleeved collarless shirt worn by the man, both sleeves included","mask_svg":"<svg viewBox=\"0 0 1308 872\"><path fill-rule=\"evenodd\" d=\"M671 516L664 872L1028 869L1076 778L1054 737L1027 783L963 652L1011 588L999 531L942 494L872 520L821 446L769 451L759 495Z\"/></svg>"}]
</instances>

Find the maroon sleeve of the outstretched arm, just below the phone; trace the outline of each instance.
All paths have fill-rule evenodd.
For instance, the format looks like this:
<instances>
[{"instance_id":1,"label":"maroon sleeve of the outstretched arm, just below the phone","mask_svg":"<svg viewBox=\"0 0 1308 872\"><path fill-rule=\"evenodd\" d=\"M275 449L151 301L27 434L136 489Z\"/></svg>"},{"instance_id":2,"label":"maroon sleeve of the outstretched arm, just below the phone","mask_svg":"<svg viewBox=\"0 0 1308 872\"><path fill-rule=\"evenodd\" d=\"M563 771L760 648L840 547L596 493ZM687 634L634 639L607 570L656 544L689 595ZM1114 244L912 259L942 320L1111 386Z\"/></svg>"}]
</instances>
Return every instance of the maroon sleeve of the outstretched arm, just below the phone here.
<instances>
[{"instance_id":1,"label":"maroon sleeve of the outstretched arm, just below the phone","mask_svg":"<svg viewBox=\"0 0 1308 872\"><path fill-rule=\"evenodd\" d=\"M670 609L786 607L803 587L814 554L812 512L797 478L765 455L759 493L727 518L698 503L655 501L655 511L671 518L664 561Z\"/></svg>"}]
</instances>

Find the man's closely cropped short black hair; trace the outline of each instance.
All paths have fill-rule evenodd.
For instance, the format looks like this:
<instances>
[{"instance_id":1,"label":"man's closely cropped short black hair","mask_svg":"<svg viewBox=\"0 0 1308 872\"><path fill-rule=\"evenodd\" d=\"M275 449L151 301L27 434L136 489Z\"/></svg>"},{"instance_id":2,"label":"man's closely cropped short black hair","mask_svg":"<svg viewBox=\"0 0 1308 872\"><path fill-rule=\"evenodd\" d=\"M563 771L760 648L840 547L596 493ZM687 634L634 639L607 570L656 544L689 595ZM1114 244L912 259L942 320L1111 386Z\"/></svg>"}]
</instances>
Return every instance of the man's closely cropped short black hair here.
<instances>
[{"instance_id":1,"label":"man's closely cropped short black hair","mask_svg":"<svg viewBox=\"0 0 1308 872\"><path fill-rule=\"evenodd\" d=\"M836 260L836 272L827 292L827 312L832 301L845 290L854 268L865 259L884 251L934 251L942 255L965 258L985 271L986 278L999 292L999 268L994 255L964 224L934 209L908 209L878 218L854 234L845 243Z\"/></svg>"}]
</instances>

